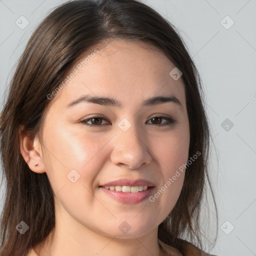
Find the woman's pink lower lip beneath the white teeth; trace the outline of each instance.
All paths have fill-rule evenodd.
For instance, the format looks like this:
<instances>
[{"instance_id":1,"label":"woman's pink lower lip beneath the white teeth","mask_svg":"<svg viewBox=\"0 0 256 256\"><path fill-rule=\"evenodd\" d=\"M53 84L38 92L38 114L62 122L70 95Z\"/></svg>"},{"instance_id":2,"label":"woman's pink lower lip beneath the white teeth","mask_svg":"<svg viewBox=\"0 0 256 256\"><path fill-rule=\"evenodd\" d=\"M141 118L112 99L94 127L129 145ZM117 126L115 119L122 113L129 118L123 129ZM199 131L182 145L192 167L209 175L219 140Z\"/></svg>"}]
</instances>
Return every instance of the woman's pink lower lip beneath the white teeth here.
<instances>
[{"instance_id":1,"label":"woman's pink lower lip beneath the white teeth","mask_svg":"<svg viewBox=\"0 0 256 256\"><path fill-rule=\"evenodd\" d=\"M145 198L149 197L149 195L152 193L152 190L154 187L149 187L148 189L141 191L141 192L137 192L137 193L108 190L102 186L100 188L106 194L108 194L112 198L116 199L117 201L120 201L123 203L135 204L135 203L141 202Z\"/></svg>"}]
</instances>

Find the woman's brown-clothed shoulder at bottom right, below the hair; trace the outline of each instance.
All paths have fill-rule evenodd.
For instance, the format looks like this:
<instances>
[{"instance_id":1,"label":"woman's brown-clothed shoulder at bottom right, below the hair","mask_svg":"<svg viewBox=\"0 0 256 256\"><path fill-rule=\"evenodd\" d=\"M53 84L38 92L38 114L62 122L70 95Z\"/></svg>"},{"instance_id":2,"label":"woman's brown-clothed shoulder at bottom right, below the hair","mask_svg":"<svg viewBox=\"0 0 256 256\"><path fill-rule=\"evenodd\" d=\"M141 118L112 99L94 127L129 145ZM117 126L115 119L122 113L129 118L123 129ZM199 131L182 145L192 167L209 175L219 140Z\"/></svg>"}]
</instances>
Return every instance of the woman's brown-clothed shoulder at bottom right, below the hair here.
<instances>
[{"instance_id":1,"label":"woman's brown-clothed shoulder at bottom right, below the hair","mask_svg":"<svg viewBox=\"0 0 256 256\"><path fill-rule=\"evenodd\" d=\"M158 242L164 251L170 253L171 256L217 256L200 250L188 241L182 239L178 239L178 241L180 243L180 250L177 250L158 239Z\"/></svg>"}]
</instances>

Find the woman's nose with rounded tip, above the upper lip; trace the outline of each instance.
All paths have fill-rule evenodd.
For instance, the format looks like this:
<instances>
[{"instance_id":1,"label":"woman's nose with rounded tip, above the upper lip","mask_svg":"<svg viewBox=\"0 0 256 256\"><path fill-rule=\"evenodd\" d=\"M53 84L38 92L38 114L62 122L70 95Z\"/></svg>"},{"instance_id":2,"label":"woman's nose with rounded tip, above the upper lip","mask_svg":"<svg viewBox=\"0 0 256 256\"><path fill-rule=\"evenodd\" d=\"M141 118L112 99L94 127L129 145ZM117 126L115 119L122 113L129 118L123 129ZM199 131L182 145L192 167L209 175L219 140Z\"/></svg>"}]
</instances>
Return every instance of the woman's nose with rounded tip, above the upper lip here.
<instances>
[{"instance_id":1,"label":"woman's nose with rounded tip, above the upper lip","mask_svg":"<svg viewBox=\"0 0 256 256\"><path fill-rule=\"evenodd\" d=\"M131 124L126 131L119 127L116 130L110 157L113 164L137 169L151 162L150 148L147 145L150 141L141 130L139 132L135 124Z\"/></svg>"}]
</instances>

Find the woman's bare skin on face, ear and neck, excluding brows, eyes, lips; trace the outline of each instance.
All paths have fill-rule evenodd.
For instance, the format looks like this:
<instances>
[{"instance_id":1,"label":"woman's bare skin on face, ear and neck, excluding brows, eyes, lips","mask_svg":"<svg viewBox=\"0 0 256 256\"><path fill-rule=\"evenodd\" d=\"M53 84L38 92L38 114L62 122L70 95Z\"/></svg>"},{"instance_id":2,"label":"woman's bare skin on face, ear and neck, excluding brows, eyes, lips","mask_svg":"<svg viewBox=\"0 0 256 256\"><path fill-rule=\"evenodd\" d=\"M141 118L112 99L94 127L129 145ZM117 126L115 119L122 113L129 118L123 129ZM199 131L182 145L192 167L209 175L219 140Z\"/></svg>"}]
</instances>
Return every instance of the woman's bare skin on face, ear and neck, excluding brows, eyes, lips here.
<instances>
[{"instance_id":1,"label":"woman's bare skin on face, ear and neck, excluding brows, eyes, lips","mask_svg":"<svg viewBox=\"0 0 256 256\"><path fill-rule=\"evenodd\" d=\"M50 100L40 140L20 129L24 160L31 171L46 172L54 191L54 235L40 251L38 246L34 250L40 256L161 255L157 227L178 199L184 172L154 202L146 198L122 203L99 185L144 178L155 184L155 193L186 163L189 123L182 77L174 80L169 72L175 65L142 42L114 39L98 49ZM84 94L112 97L123 107L89 102L66 107ZM158 95L174 95L182 106L173 102L141 106L143 100ZM96 114L106 120L99 119L94 127L80 122ZM177 123L159 126L151 119L154 116L170 116ZM118 126L123 118L131 124L126 131ZM72 169L80 175L74 183L67 178ZM123 221L131 227L126 234L118 228Z\"/></svg>"}]
</instances>

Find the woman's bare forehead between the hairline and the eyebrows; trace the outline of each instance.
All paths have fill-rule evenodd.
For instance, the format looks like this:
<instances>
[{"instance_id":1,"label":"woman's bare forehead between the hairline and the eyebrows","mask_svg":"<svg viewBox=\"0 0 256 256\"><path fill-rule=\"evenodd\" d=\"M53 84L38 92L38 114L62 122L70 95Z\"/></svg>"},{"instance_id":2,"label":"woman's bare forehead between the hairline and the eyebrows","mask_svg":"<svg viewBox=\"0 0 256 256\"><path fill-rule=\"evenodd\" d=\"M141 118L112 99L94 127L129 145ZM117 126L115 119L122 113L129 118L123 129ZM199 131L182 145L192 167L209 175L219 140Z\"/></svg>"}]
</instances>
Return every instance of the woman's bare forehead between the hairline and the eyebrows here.
<instances>
[{"instance_id":1,"label":"woman's bare forehead between the hairline and the eyebrows","mask_svg":"<svg viewBox=\"0 0 256 256\"><path fill-rule=\"evenodd\" d=\"M134 106L134 101L175 94L185 104L182 78L174 80L169 75L174 67L152 45L115 39L82 54L67 72L69 78L53 101L63 106L89 94L111 96L131 107L131 101Z\"/></svg>"}]
</instances>

